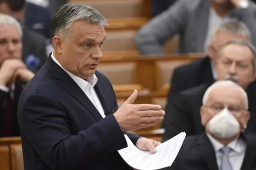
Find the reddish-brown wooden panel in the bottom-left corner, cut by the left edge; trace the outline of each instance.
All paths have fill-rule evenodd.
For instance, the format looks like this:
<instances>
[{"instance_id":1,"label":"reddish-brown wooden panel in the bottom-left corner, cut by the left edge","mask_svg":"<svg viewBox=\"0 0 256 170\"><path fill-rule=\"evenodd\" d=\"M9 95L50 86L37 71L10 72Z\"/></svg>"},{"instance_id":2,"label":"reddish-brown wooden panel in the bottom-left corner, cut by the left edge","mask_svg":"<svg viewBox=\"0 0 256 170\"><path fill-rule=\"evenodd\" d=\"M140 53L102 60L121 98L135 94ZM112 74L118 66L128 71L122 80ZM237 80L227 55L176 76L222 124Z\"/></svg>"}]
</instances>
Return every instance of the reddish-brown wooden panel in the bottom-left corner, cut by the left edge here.
<instances>
[{"instance_id":1,"label":"reddish-brown wooden panel in the bottom-left corner, cut by the left edge","mask_svg":"<svg viewBox=\"0 0 256 170\"><path fill-rule=\"evenodd\" d=\"M0 170L10 169L10 152L8 145L0 145Z\"/></svg>"}]
</instances>

